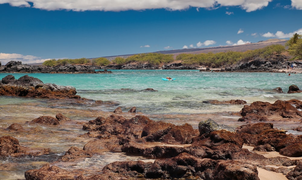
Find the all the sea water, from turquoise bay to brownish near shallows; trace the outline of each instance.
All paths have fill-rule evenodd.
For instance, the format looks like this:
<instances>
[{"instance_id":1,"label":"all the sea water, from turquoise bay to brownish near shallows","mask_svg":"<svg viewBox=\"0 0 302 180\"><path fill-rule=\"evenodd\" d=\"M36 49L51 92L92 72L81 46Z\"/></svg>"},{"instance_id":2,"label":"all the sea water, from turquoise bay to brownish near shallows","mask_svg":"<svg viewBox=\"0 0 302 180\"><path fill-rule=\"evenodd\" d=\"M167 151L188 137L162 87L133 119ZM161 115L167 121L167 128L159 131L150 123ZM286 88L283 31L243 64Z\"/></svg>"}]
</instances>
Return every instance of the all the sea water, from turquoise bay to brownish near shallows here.
<instances>
[{"instance_id":1,"label":"all the sea water, from turquoise bay to brownish near shallows","mask_svg":"<svg viewBox=\"0 0 302 180\"><path fill-rule=\"evenodd\" d=\"M292 84L302 89L302 74L286 73L237 73L237 72L199 72L198 70L112 70L112 74L21 74L13 73L16 79L24 75L39 78L43 83L73 86L77 95L87 99L102 100L77 103L69 99L40 99L0 96L0 135L13 136L21 146L30 148L50 148L51 153L40 157L10 158L0 157L1 179L25 179L28 169L40 168L45 163L64 169L101 168L117 160L145 160L123 153L104 152L84 161L66 163L59 160L71 147L82 148L89 138L80 135L82 122L88 122L98 116L108 117L117 107L121 107L122 116L132 118L136 114L146 115L155 121L166 121L176 125L184 123L198 128L198 123L212 118L221 124L239 126L238 115L243 105L211 105L209 100L241 99L247 103L255 101L275 102L276 100L302 100L302 93L287 94ZM8 73L0 74L0 79ZM175 81L163 81L169 76ZM281 87L284 93L273 89ZM145 91L153 88L157 91ZM131 107L137 113L128 113ZM62 113L73 121L59 126L47 126L30 123L40 116L53 116ZM21 131L7 130L10 124L18 123L24 127ZM241 123L241 124L240 124ZM300 126L300 122L287 124L276 121L274 126L289 130ZM290 131L292 132L292 131ZM55 162L53 162L55 161ZM92 173L91 172L91 173Z\"/></svg>"}]
</instances>

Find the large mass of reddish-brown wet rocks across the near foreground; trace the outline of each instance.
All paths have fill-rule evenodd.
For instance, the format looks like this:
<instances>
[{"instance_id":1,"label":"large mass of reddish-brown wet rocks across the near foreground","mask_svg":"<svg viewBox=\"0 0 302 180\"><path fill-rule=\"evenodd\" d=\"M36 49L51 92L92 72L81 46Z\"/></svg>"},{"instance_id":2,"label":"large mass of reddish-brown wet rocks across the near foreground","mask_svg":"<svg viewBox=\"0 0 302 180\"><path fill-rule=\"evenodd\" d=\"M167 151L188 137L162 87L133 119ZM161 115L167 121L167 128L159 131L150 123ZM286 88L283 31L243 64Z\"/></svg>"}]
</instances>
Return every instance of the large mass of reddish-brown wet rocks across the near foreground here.
<instances>
[{"instance_id":1,"label":"large mass of reddish-brown wet rocks across the near foreground","mask_svg":"<svg viewBox=\"0 0 302 180\"><path fill-rule=\"evenodd\" d=\"M156 157L154 162L113 162L99 174L85 174L85 170L68 171L58 166L44 165L40 169L25 172L26 180L34 179L249 179L259 180L257 168L282 172L298 180L301 161L286 157L267 158L248 151L243 143L255 145L256 149L271 149L281 153L302 152L286 149L297 145L301 138L286 135L273 128L271 123L248 124L227 130L199 131L191 125L176 126L148 117L137 115L131 119L122 116L98 117L83 125L90 132L84 136L97 137L81 150L71 147L62 157L68 161L74 158L91 157L94 153L108 149L145 157ZM262 145L262 147L260 147ZM273 148L269 148L273 147ZM284 154L287 154L284 153ZM288 155L287 154L287 155ZM286 168L286 166L295 166ZM275 167L274 167L275 166ZM277 166L284 166L277 168Z\"/></svg>"}]
</instances>

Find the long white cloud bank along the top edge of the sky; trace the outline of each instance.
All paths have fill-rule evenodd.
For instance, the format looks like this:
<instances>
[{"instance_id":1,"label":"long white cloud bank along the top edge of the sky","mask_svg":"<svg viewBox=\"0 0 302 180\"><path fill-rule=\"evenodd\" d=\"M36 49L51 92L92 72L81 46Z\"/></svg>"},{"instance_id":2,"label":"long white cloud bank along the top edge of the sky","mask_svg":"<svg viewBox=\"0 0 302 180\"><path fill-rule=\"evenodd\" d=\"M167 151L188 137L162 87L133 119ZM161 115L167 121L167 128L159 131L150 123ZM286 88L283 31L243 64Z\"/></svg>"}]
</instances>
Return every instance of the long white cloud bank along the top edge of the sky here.
<instances>
[{"instance_id":1,"label":"long white cloud bank along the top edge of the sky","mask_svg":"<svg viewBox=\"0 0 302 180\"><path fill-rule=\"evenodd\" d=\"M210 10L219 7L238 6L246 10L246 12L256 11L268 5L272 0L0 0L0 4L9 3L11 6L33 7L37 9L52 10L72 10L72 11L127 11L127 10L145 10L145 9L161 9L168 10L184 10L190 7L207 8ZM28 2L32 3L29 4ZM302 8L299 0L292 0L292 6Z\"/></svg>"}]
</instances>

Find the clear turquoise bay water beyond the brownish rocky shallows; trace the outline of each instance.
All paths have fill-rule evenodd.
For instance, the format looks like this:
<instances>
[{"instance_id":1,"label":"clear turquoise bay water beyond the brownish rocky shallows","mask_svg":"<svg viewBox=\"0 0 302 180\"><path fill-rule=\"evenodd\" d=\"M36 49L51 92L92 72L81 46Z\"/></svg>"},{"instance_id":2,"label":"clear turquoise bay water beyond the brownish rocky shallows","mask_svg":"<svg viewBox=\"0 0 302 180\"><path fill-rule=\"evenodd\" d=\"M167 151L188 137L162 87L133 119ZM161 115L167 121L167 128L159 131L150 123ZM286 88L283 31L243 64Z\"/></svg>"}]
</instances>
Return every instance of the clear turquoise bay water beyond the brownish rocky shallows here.
<instances>
[{"instance_id":1,"label":"clear turquoise bay water beyond the brownish rocky shallows","mask_svg":"<svg viewBox=\"0 0 302 180\"><path fill-rule=\"evenodd\" d=\"M43 83L73 86L77 90L77 95L81 97L118 102L124 109L136 106L139 111L147 114L167 111L175 113L225 111L223 106L202 103L214 99L242 99L248 103L302 99L300 93L286 93L292 84L302 87L302 74L288 76L286 73L223 73L198 70L112 70L112 72L112 74L28 75L39 78ZM6 75L8 74L0 74L0 78ZM25 74L12 75L17 79ZM166 76L176 78L176 81L163 81L161 78ZM285 93L273 91L272 89L276 87L281 87ZM158 91L143 91L146 88ZM1 101L0 104L7 103L5 101ZM229 108L235 111L242 108L236 107Z\"/></svg>"}]
</instances>

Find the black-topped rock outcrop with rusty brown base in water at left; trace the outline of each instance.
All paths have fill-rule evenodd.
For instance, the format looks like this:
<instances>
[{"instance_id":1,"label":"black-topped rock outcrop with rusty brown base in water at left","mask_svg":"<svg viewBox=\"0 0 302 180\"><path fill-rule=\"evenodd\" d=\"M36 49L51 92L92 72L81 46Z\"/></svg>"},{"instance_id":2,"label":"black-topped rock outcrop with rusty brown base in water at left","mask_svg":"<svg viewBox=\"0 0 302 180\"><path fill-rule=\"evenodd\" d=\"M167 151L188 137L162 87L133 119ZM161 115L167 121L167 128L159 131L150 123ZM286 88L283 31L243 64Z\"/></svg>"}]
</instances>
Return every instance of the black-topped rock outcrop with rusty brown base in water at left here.
<instances>
[{"instance_id":1,"label":"black-topped rock outcrop with rusty brown base in water at left","mask_svg":"<svg viewBox=\"0 0 302 180\"><path fill-rule=\"evenodd\" d=\"M7 75L0 81L0 96L26 96L39 98L76 98L76 88L56 84L44 84L40 79L28 75L18 80L13 75Z\"/></svg>"}]
</instances>

